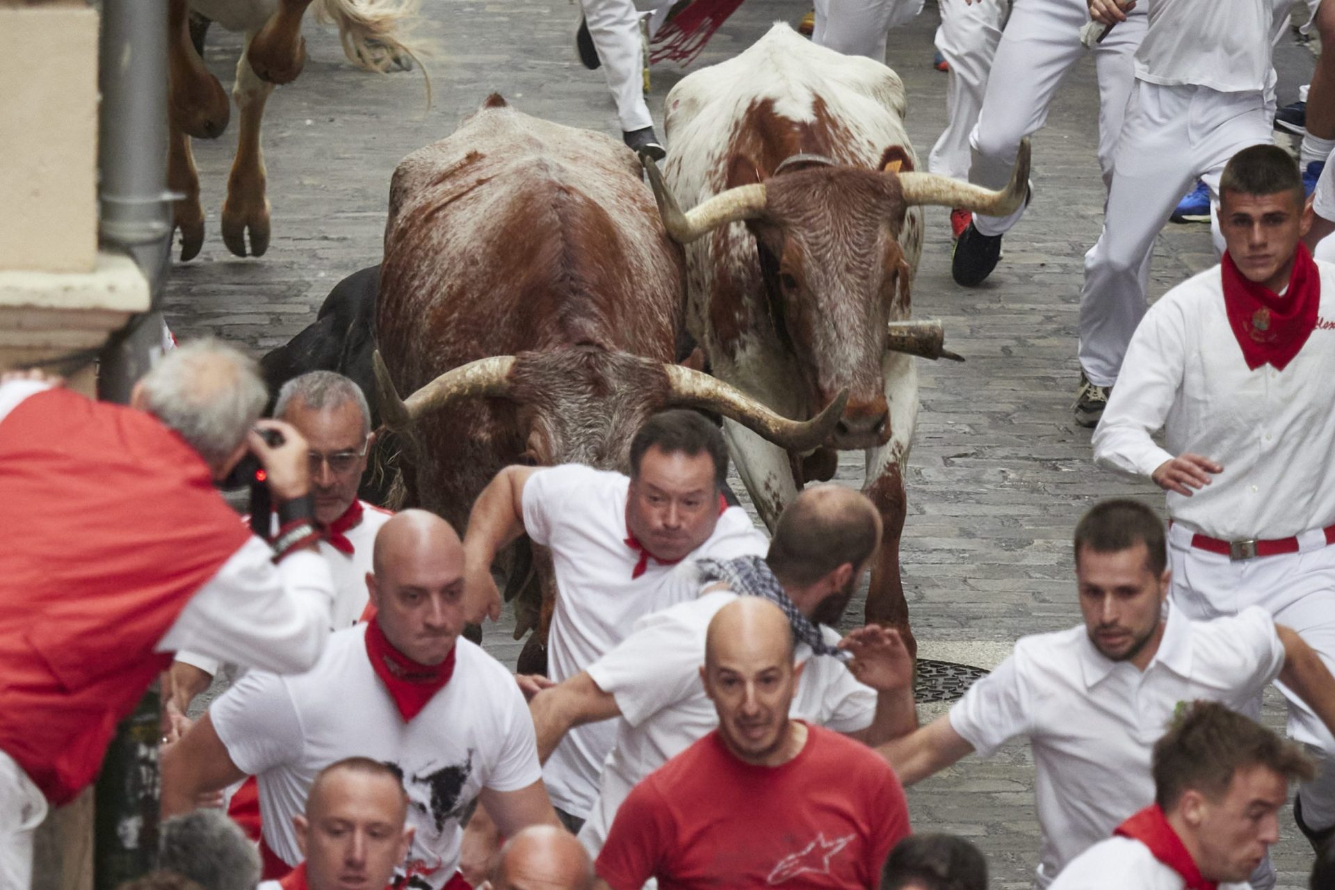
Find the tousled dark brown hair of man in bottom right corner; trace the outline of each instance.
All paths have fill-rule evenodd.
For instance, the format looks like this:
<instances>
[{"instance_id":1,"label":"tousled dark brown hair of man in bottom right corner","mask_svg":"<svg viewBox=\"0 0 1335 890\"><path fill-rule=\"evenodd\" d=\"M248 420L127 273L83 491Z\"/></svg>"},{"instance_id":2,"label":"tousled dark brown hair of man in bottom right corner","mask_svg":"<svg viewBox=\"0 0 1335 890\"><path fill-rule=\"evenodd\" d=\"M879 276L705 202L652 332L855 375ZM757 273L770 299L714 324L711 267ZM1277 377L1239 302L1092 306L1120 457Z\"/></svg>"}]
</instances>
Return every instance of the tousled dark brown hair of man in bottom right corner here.
<instances>
[{"instance_id":1,"label":"tousled dark brown hair of man in bottom right corner","mask_svg":"<svg viewBox=\"0 0 1335 890\"><path fill-rule=\"evenodd\" d=\"M1256 721L1219 702L1193 702L1155 742L1155 802L1167 811L1188 790L1219 799L1234 773L1248 766L1264 766L1286 779L1316 774L1302 749Z\"/></svg>"}]
</instances>

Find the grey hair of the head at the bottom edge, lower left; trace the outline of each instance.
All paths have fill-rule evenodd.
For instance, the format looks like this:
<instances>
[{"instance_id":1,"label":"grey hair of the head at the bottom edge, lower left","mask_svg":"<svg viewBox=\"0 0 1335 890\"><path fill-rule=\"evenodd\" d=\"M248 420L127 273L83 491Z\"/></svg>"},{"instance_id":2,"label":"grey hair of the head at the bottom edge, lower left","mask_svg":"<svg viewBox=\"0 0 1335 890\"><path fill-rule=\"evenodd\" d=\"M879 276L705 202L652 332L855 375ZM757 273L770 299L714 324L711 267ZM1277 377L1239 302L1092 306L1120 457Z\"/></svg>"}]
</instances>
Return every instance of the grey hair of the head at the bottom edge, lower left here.
<instances>
[{"instance_id":1,"label":"grey hair of the head at the bottom edge, lower left","mask_svg":"<svg viewBox=\"0 0 1335 890\"><path fill-rule=\"evenodd\" d=\"M204 890L254 890L259 851L222 810L195 810L162 823L158 865Z\"/></svg>"}]
</instances>

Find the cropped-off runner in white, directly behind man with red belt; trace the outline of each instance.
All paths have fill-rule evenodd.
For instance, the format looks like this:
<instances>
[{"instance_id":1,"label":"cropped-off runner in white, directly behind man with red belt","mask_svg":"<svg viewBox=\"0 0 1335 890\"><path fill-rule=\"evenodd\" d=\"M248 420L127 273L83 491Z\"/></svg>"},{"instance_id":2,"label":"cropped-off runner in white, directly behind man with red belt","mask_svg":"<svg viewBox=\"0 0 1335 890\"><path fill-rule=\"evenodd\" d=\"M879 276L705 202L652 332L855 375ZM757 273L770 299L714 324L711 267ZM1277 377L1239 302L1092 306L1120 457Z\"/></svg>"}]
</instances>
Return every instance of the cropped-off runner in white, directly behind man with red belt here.
<instances>
[{"instance_id":1,"label":"cropped-off runner in white, directly behind man with red belt","mask_svg":"<svg viewBox=\"0 0 1335 890\"><path fill-rule=\"evenodd\" d=\"M1212 195L1238 151L1270 143L1267 95L1275 84L1272 0L1149 0L1136 81L1117 143L1103 234L1085 254L1080 291L1076 422L1093 427L1117 382L1127 343L1145 314L1155 236L1197 177ZM1123 27L1116 0L1089 0ZM1116 33L1116 28L1113 33ZM1216 250L1223 250L1218 238Z\"/></svg>"}]
</instances>

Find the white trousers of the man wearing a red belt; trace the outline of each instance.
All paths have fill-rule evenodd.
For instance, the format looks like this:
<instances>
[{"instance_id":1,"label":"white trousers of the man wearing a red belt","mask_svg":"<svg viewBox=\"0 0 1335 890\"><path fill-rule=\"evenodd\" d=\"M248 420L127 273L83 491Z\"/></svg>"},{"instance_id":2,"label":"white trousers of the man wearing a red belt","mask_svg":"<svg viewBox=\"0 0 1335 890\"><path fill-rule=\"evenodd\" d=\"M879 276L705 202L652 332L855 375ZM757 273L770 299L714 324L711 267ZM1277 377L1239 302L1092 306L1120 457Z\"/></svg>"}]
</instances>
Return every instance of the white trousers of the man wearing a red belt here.
<instances>
[{"instance_id":1,"label":"white trousers of the man wearing a red belt","mask_svg":"<svg viewBox=\"0 0 1335 890\"><path fill-rule=\"evenodd\" d=\"M1299 552L1256 559L1228 556L1187 544L1183 526L1168 531L1172 602L1189 618L1208 620L1260 606L1276 624L1291 627L1335 670L1335 546L1320 530L1298 536ZM1316 778L1303 782L1303 821L1312 829L1335 825L1335 738L1307 705L1282 683L1288 701L1288 735L1318 757ZM1260 699L1252 715L1260 714Z\"/></svg>"}]
</instances>

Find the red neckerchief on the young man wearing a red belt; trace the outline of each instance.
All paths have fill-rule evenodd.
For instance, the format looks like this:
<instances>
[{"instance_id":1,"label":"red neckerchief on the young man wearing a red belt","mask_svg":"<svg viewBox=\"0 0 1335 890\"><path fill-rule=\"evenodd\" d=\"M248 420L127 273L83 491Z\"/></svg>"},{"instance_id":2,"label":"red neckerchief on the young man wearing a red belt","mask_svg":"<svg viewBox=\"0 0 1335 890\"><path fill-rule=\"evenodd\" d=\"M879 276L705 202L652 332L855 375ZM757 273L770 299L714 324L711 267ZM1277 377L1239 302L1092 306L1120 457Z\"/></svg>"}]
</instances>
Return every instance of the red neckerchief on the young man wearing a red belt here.
<instances>
[{"instance_id":1,"label":"red neckerchief on the young man wearing a red belt","mask_svg":"<svg viewBox=\"0 0 1335 890\"><path fill-rule=\"evenodd\" d=\"M1247 367L1255 371L1270 362L1275 370L1283 371L1316 327L1316 310L1322 302L1322 276L1307 246L1298 243L1284 296L1247 280L1227 251L1219 268L1224 280L1228 326L1234 328Z\"/></svg>"}]
</instances>

